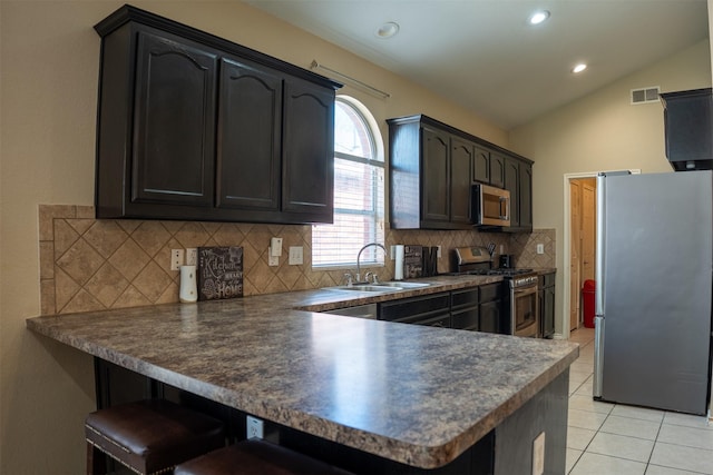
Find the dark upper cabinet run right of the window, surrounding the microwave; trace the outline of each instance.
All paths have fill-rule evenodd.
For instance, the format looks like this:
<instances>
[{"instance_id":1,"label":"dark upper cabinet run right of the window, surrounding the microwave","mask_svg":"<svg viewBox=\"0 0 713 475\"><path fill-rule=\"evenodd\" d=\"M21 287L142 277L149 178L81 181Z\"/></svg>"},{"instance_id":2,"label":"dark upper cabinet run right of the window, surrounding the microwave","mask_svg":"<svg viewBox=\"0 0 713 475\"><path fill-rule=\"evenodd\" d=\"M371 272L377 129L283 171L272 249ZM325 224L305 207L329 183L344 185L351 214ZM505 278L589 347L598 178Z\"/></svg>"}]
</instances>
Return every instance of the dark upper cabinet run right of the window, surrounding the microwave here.
<instances>
[{"instance_id":1,"label":"dark upper cabinet run right of the window, surrounding the microwave","mask_svg":"<svg viewBox=\"0 0 713 475\"><path fill-rule=\"evenodd\" d=\"M387 122L393 229L470 229L472 185L486 182L509 189L517 214L515 226L488 230L531 230L531 160L427 116Z\"/></svg>"}]
</instances>

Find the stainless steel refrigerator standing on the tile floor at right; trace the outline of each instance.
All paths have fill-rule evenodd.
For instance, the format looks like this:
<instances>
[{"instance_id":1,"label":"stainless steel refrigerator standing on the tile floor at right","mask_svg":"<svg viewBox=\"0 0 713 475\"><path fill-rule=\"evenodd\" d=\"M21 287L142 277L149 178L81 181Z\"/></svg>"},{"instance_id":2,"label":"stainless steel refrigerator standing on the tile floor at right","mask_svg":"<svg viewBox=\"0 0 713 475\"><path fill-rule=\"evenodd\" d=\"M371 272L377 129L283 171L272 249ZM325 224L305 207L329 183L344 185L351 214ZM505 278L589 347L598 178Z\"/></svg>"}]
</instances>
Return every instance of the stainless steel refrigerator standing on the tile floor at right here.
<instances>
[{"instance_id":1,"label":"stainless steel refrigerator standing on the tile floor at right","mask_svg":"<svg viewBox=\"0 0 713 475\"><path fill-rule=\"evenodd\" d=\"M597 177L594 398L706 414L713 172Z\"/></svg>"}]
</instances>

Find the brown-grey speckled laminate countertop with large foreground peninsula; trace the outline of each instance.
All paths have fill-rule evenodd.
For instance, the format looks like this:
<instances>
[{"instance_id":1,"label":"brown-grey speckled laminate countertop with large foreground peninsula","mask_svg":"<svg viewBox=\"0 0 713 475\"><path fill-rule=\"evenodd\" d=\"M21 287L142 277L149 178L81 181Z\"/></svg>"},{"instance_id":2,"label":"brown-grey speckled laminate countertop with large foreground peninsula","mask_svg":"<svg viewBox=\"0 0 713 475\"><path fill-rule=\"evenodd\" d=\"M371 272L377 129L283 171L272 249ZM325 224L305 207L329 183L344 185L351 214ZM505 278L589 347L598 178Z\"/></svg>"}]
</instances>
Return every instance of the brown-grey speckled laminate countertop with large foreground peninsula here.
<instances>
[{"instance_id":1,"label":"brown-grey speckled laminate countertop with large foreground peninsula","mask_svg":"<svg viewBox=\"0 0 713 475\"><path fill-rule=\"evenodd\" d=\"M27 320L28 328L258 417L409 465L455 459L576 359L578 346L295 310L369 296L305 290Z\"/></svg>"}]
</instances>

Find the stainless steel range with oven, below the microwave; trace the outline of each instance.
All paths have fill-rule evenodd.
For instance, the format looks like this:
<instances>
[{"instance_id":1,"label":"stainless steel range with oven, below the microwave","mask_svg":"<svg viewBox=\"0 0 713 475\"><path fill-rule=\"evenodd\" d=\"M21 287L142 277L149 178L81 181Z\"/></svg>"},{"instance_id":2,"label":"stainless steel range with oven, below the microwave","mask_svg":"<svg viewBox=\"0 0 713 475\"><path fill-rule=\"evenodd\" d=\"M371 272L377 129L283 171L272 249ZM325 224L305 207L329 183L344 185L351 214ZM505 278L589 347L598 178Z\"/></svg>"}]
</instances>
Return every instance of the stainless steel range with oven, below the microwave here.
<instances>
[{"instance_id":1,"label":"stainless steel range with oven, below the microwave","mask_svg":"<svg viewBox=\"0 0 713 475\"><path fill-rule=\"evenodd\" d=\"M539 334L538 276L533 269L492 268L492 256L480 247L453 250L452 274L502 276L502 311L499 333L537 338Z\"/></svg>"}]
</instances>

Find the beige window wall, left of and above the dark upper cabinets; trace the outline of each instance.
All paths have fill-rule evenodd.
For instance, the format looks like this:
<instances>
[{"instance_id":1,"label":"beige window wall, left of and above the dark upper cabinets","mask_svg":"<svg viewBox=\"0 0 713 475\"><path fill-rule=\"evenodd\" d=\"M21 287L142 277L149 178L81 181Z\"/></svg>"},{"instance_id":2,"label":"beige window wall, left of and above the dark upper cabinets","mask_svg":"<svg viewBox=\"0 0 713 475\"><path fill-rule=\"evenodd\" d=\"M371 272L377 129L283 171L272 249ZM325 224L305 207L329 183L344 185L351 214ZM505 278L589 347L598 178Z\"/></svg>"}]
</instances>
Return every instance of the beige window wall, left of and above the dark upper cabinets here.
<instances>
[{"instance_id":1,"label":"beige window wall, left of and above the dark upper cabinets","mask_svg":"<svg viewBox=\"0 0 713 475\"><path fill-rule=\"evenodd\" d=\"M99 37L123 1L0 1L0 473L78 474L94 405L89 357L30 334L40 313L38 206L94 201ZM344 88L384 119L423 112L507 146L507 135L402 78L241 2L136 2L301 67L313 59L388 91Z\"/></svg>"}]
</instances>

